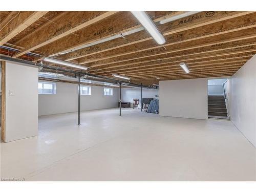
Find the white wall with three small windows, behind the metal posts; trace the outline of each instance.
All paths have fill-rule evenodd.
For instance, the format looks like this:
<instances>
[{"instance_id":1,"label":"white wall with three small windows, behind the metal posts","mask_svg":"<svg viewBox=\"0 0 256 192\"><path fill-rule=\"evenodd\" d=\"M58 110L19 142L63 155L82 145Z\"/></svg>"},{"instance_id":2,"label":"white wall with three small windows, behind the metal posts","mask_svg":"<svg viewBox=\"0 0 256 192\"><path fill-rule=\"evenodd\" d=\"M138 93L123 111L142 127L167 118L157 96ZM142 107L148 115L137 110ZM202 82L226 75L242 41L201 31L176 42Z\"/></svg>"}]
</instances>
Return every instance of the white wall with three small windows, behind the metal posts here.
<instances>
[{"instance_id":1,"label":"white wall with three small windows, behind the metal posts","mask_svg":"<svg viewBox=\"0 0 256 192\"><path fill-rule=\"evenodd\" d=\"M57 94L38 95L38 115L77 112L77 84L57 82L56 86ZM104 96L103 87L91 86L91 95L81 95L81 111L116 108L118 101L118 88L113 88L113 96Z\"/></svg>"}]
</instances>

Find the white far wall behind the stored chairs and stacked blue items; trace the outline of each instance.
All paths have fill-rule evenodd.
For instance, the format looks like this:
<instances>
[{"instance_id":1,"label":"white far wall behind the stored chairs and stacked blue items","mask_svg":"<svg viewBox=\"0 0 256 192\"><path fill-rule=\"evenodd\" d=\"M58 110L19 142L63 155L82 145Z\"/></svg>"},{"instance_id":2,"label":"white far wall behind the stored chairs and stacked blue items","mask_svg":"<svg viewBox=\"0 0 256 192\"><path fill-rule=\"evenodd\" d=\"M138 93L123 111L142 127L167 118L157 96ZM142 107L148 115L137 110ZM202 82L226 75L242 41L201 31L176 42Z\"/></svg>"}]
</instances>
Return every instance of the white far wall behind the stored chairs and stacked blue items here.
<instances>
[{"instance_id":1,"label":"white far wall behind the stored chairs and stacked blue items","mask_svg":"<svg viewBox=\"0 0 256 192\"><path fill-rule=\"evenodd\" d=\"M143 89L142 98L156 98L158 95L158 89ZM139 99L141 103L141 88L123 88L121 94L122 102L131 102L133 103L134 99ZM132 106L132 105L131 105ZM140 108L140 106L139 106Z\"/></svg>"}]
</instances>

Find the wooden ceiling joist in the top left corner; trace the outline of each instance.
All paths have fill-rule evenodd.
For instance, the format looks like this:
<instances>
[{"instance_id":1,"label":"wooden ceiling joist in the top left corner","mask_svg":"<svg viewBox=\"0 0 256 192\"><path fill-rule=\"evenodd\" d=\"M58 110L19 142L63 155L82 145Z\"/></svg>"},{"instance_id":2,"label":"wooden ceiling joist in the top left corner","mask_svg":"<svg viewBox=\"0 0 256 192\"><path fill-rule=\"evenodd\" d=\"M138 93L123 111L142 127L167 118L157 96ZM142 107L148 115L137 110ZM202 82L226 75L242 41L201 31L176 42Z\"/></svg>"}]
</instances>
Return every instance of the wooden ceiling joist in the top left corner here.
<instances>
[{"instance_id":1,"label":"wooden ceiling joist in the top left corner","mask_svg":"<svg viewBox=\"0 0 256 192\"><path fill-rule=\"evenodd\" d=\"M19 11L16 16L12 17L11 20L1 28L0 46L4 45L47 12L48 11Z\"/></svg>"}]
</instances>

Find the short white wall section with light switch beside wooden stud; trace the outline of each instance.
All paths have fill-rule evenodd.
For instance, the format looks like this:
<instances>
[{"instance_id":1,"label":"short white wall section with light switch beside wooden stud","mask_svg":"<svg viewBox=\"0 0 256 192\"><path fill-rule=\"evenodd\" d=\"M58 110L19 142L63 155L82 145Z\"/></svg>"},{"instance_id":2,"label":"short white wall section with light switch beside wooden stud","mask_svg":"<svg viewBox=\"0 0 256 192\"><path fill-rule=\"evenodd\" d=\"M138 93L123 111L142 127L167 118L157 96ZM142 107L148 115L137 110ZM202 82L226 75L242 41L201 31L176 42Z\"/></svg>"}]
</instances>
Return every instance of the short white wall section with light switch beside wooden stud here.
<instances>
[{"instance_id":1,"label":"short white wall section with light switch beside wooden stud","mask_svg":"<svg viewBox=\"0 0 256 192\"><path fill-rule=\"evenodd\" d=\"M37 135L37 88L38 68L6 62L6 142Z\"/></svg>"}]
</instances>

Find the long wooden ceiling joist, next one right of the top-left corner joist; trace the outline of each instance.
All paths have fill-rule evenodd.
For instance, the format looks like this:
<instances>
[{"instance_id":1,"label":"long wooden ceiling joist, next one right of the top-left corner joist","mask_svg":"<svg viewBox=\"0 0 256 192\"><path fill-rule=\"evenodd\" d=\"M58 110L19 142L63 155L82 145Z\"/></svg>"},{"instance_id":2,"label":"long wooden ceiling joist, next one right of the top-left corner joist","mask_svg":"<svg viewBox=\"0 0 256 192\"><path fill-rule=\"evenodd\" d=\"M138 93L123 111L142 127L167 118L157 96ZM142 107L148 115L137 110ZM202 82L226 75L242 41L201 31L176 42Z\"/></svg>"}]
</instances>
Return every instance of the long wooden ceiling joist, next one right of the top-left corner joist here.
<instances>
[{"instance_id":1,"label":"long wooden ceiling joist, next one right of the top-left corner joist","mask_svg":"<svg viewBox=\"0 0 256 192\"><path fill-rule=\"evenodd\" d=\"M116 11L71 11L64 12L48 22L44 27L40 27L30 35L17 42L17 46L24 49L13 57L19 57L32 50L50 44L66 35L72 34L84 27L92 25L99 20L115 14Z\"/></svg>"}]
</instances>

